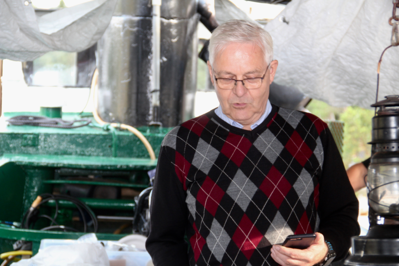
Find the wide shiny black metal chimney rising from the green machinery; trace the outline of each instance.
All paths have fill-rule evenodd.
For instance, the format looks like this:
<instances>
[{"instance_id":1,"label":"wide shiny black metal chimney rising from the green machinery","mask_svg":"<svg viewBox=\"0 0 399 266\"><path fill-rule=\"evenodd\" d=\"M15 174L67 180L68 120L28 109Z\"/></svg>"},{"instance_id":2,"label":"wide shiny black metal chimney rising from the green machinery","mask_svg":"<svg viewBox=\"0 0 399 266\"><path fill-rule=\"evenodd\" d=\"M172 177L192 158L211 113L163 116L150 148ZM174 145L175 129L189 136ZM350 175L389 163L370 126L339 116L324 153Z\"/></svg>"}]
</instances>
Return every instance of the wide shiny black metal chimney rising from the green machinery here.
<instances>
[{"instance_id":1,"label":"wide shiny black metal chimney rising from the green machinery","mask_svg":"<svg viewBox=\"0 0 399 266\"><path fill-rule=\"evenodd\" d=\"M140 127L158 120L155 124L174 127L193 117L197 1L162 0L160 59L155 58L152 45L156 13L152 0L118 0L110 25L97 43L98 113L104 121ZM154 65L158 62L160 83L156 86ZM159 89L159 104L154 88ZM158 119L153 105L159 106Z\"/></svg>"}]
</instances>

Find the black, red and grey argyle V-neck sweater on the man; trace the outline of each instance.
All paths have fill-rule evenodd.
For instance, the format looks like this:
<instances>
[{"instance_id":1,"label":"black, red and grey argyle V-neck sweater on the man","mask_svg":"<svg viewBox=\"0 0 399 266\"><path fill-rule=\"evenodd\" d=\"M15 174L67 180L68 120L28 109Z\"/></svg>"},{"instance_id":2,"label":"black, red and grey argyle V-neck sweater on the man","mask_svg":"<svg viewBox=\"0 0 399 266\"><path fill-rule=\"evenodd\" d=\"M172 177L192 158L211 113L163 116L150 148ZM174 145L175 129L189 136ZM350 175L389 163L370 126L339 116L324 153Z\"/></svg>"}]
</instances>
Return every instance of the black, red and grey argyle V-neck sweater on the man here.
<instances>
[{"instance_id":1,"label":"black, red and grey argyle V-neck sweater on the man","mask_svg":"<svg viewBox=\"0 0 399 266\"><path fill-rule=\"evenodd\" d=\"M147 250L155 266L275 266L271 245L320 232L339 260L359 235L358 208L318 117L273 105L248 131L211 110L162 143Z\"/></svg>"}]
</instances>

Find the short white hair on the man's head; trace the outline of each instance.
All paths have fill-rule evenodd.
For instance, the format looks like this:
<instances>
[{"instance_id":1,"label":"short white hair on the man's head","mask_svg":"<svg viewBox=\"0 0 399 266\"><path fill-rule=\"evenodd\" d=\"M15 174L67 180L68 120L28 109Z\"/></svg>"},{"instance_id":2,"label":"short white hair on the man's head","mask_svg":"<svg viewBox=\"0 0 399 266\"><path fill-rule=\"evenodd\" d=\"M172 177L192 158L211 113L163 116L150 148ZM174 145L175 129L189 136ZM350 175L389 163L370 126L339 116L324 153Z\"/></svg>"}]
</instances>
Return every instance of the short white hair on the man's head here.
<instances>
[{"instance_id":1,"label":"short white hair on the man's head","mask_svg":"<svg viewBox=\"0 0 399 266\"><path fill-rule=\"evenodd\" d=\"M261 26L247 20L229 20L212 32L209 39L209 62L213 65L215 55L230 43L252 42L260 47L269 64L273 61L273 40Z\"/></svg>"}]
</instances>

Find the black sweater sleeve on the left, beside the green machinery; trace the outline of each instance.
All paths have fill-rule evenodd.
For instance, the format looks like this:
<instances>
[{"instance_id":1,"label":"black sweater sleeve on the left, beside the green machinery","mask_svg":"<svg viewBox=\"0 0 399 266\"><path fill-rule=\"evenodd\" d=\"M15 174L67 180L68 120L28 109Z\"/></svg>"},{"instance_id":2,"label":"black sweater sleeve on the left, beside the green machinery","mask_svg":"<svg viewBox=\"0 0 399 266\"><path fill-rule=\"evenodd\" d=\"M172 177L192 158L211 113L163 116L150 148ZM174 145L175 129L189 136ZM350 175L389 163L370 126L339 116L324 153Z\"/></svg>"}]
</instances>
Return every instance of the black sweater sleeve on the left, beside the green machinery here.
<instances>
[{"instance_id":1,"label":"black sweater sleeve on the left, beside the green machinery","mask_svg":"<svg viewBox=\"0 0 399 266\"><path fill-rule=\"evenodd\" d=\"M188 245L184 240L188 220L186 192L176 175L174 161L169 158L174 158L174 149L163 146L155 175L146 248L155 266L188 266Z\"/></svg>"}]
</instances>

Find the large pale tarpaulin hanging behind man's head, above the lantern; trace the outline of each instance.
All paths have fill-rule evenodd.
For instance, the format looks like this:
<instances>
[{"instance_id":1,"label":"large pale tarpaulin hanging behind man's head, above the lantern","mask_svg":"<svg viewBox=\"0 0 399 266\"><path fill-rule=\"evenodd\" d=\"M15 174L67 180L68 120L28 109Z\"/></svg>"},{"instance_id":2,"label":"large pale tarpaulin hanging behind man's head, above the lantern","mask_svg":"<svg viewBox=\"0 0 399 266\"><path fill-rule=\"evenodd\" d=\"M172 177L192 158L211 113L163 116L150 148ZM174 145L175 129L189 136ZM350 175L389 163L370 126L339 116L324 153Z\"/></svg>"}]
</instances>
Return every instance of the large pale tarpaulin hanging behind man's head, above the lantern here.
<instances>
[{"instance_id":1,"label":"large pale tarpaulin hanging behind man's head, above the lantern","mask_svg":"<svg viewBox=\"0 0 399 266\"><path fill-rule=\"evenodd\" d=\"M291 1L265 26L279 61L274 81L333 106L370 108L378 61L391 44L392 9L392 0ZM398 73L399 46L384 54L379 100L399 94Z\"/></svg>"}]
</instances>

